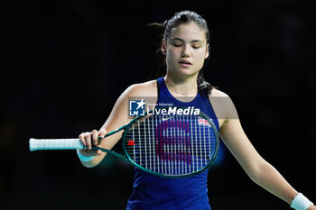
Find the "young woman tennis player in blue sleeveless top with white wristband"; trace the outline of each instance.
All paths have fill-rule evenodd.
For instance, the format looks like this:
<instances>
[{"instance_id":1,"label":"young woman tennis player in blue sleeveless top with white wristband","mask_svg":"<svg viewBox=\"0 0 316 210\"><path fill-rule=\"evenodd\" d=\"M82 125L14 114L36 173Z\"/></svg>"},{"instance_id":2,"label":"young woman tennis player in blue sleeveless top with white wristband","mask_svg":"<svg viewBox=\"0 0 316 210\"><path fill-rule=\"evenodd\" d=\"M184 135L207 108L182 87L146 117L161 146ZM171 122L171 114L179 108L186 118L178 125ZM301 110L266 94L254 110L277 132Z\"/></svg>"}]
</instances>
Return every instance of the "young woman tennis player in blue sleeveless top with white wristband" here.
<instances>
[{"instance_id":1,"label":"young woman tennis player in blue sleeveless top with white wristband","mask_svg":"<svg viewBox=\"0 0 316 210\"><path fill-rule=\"evenodd\" d=\"M101 144L111 149L120 139L122 132L98 142L107 131L128 123L128 98L156 98L152 103L194 106L200 108L218 127L222 141L235 156L246 174L256 184L280 197L293 208L316 210L316 207L298 193L272 165L266 162L246 137L237 117L237 111L229 97L212 88L201 74L204 60L209 57L209 29L205 20L194 12L182 11L165 22L162 52L165 56L165 75L157 80L128 87L119 96L106 123L97 131L83 132L80 141L88 150L78 152L86 167L97 166L106 153L90 150L92 145ZM217 97L226 97L225 104ZM187 100L185 100L185 98ZM188 100L188 98L190 98ZM217 116L220 116L217 118ZM210 209L207 194L208 170L189 178L158 178L135 169L134 190L126 209Z\"/></svg>"}]
</instances>

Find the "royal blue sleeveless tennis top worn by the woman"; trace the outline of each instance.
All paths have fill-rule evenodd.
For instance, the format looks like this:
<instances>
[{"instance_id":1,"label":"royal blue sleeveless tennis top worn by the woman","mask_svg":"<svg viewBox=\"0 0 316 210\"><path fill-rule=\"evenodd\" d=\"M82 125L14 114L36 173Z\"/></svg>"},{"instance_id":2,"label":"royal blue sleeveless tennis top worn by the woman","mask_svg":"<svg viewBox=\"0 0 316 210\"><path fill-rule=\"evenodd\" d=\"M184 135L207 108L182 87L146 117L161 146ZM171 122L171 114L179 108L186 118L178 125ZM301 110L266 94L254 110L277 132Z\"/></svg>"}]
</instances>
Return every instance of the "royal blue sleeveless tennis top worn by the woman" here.
<instances>
[{"instance_id":1,"label":"royal blue sleeveless tennis top worn by the woman","mask_svg":"<svg viewBox=\"0 0 316 210\"><path fill-rule=\"evenodd\" d=\"M208 96L198 93L191 102L174 98L163 78L158 78L157 106L172 104L194 106L207 114L218 128L218 118ZM210 210L208 197L208 169L189 178L158 178L135 168L133 193L126 210Z\"/></svg>"}]
</instances>

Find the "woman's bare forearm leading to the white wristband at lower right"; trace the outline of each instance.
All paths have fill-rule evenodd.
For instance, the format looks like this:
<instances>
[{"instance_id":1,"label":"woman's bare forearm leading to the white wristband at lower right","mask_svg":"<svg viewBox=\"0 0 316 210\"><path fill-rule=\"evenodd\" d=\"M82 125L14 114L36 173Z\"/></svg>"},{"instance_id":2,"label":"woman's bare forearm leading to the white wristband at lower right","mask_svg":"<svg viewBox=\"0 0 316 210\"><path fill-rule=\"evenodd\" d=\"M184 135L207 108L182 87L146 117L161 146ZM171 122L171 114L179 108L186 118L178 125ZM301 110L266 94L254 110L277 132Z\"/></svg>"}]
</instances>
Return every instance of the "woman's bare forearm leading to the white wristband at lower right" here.
<instances>
[{"instance_id":1,"label":"woman's bare forearm leading to the white wristband at lower right","mask_svg":"<svg viewBox=\"0 0 316 210\"><path fill-rule=\"evenodd\" d=\"M257 185L265 188L274 196L280 197L288 204L291 204L293 197L298 194L285 178L265 160L254 172L249 174L249 177Z\"/></svg>"}]
</instances>

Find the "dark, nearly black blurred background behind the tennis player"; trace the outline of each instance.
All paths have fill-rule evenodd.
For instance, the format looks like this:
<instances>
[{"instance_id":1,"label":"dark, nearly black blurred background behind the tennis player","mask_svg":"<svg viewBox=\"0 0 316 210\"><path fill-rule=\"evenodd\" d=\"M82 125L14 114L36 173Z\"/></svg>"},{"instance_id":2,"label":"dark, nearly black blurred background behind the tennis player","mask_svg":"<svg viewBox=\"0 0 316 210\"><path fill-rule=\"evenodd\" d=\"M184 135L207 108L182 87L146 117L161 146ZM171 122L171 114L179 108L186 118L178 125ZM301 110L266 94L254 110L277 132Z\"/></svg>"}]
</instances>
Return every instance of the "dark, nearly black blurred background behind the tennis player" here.
<instances>
[{"instance_id":1,"label":"dark, nearly black blurred background behind the tennis player","mask_svg":"<svg viewBox=\"0 0 316 210\"><path fill-rule=\"evenodd\" d=\"M190 3L190 4L189 4ZM148 23L201 14L211 31L205 77L237 106L257 151L316 202L315 14L311 1L2 3L0 208L125 209L133 169L75 151L28 151L33 138L98 129L126 87L153 71ZM209 171L214 210L289 209L256 186L226 151Z\"/></svg>"}]
</instances>

